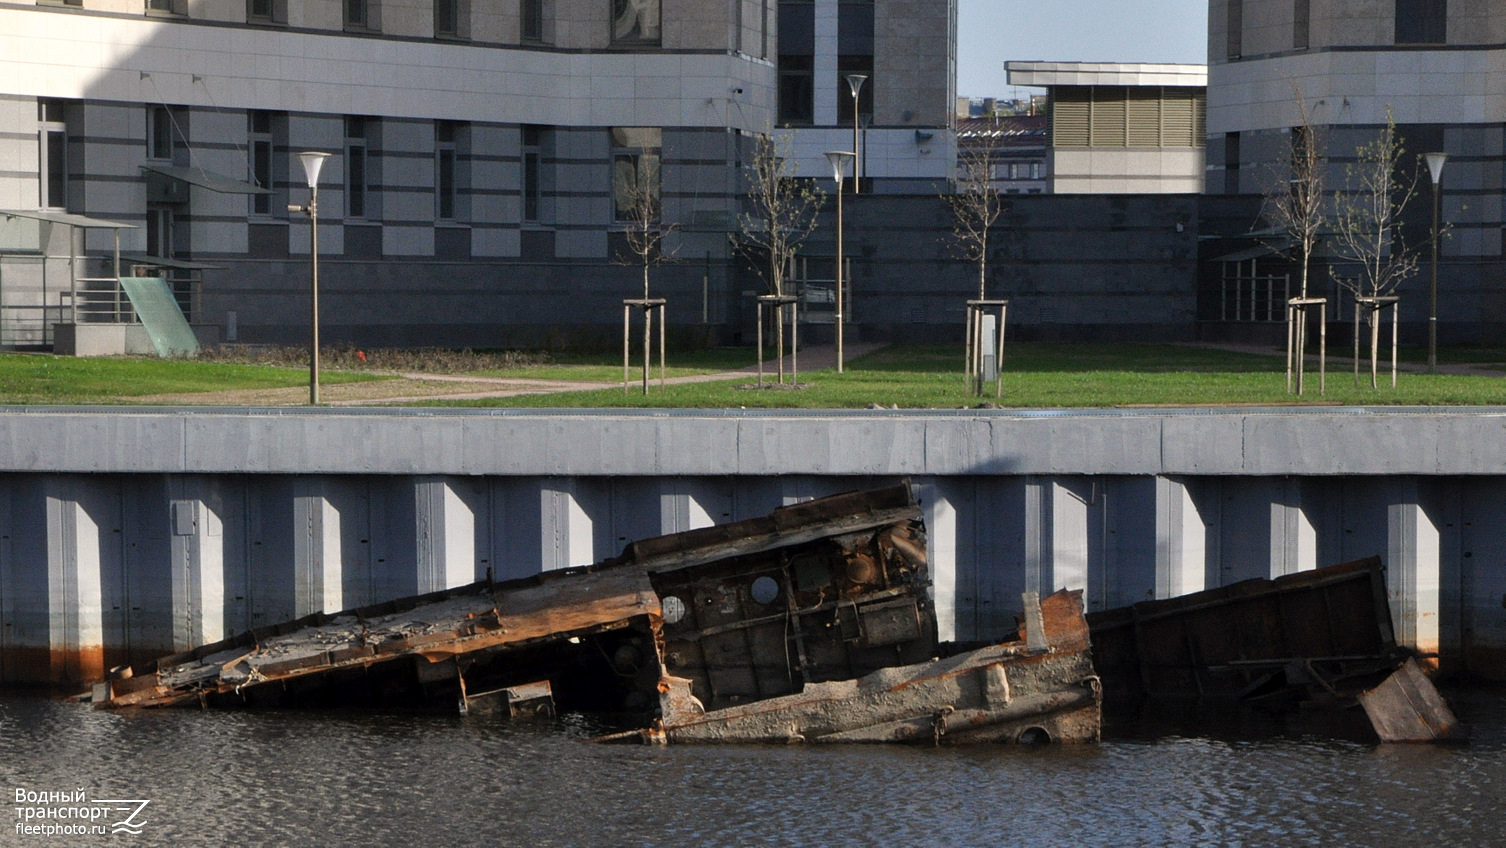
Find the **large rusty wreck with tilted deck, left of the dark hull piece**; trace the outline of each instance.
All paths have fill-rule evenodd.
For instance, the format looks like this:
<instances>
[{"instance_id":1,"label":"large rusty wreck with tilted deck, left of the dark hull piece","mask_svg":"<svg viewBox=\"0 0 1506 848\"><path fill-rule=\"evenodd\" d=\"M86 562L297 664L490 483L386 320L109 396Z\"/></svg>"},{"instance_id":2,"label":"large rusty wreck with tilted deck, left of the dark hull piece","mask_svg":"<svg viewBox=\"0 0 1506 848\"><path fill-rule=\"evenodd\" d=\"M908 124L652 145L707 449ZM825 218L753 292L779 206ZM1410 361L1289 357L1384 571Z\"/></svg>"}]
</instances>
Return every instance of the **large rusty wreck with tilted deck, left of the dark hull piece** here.
<instances>
[{"instance_id":1,"label":"large rusty wreck with tilted deck, left of the dark hull piece","mask_svg":"<svg viewBox=\"0 0 1506 848\"><path fill-rule=\"evenodd\" d=\"M164 657L105 706L396 703L630 715L649 741L1086 741L1099 688L1078 593L1021 639L938 658L907 485L628 545Z\"/></svg>"}]
</instances>

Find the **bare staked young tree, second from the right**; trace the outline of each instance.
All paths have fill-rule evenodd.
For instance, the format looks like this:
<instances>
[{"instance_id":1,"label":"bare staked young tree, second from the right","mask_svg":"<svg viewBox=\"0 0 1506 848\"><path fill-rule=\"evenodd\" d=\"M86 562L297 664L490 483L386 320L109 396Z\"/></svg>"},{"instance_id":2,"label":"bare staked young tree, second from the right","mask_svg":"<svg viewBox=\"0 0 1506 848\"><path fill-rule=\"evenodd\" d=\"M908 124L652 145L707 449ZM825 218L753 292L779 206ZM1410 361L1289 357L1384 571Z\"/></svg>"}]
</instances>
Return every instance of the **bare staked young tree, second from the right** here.
<instances>
[{"instance_id":1,"label":"bare staked young tree, second from the right","mask_svg":"<svg viewBox=\"0 0 1506 848\"><path fill-rule=\"evenodd\" d=\"M1295 310L1291 306L1286 310L1289 324L1286 331L1286 390L1292 389L1295 366L1297 393L1301 395L1303 354L1307 349L1307 279L1318 239L1328 223L1328 199L1324 185L1327 134L1324 128L1313 124L1312 108L1295 81L1292 81L1292 99L1297 102L1298 124L1292 127L1289 136L1286 161L1273 167L1261 217L1271 229L1280 230L1286 236L1286 244L1279 252L1297 259L1301 268L1298 298L1303 303ZM1295 327L1291 325L1294 321Z\"/></svg>"}]
</instances>

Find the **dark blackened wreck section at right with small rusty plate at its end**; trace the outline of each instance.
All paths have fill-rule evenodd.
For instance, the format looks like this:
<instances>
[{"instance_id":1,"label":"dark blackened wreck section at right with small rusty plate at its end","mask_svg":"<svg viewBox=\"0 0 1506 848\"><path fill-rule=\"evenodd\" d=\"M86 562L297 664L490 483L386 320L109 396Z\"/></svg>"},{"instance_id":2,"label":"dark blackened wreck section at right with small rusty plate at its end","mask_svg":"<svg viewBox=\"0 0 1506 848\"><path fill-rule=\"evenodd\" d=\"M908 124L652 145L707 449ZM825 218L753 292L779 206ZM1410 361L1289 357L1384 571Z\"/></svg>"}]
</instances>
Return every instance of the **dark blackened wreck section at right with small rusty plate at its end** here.
<instances>
[{"instance_id":1,"label":"dark blackened wreck section at right with small rusty plate at its end","mask_svg":"<svg viewBox=\"0 0 1506 848\"><path fill-rule=\"evenodd\" d=\"M1251 706L1363 706L1383 741L1461 729L1411 654L1396 645L1378 557L1087 616L1107 700L1238 700Z\"/></svg>"}]
</instances>

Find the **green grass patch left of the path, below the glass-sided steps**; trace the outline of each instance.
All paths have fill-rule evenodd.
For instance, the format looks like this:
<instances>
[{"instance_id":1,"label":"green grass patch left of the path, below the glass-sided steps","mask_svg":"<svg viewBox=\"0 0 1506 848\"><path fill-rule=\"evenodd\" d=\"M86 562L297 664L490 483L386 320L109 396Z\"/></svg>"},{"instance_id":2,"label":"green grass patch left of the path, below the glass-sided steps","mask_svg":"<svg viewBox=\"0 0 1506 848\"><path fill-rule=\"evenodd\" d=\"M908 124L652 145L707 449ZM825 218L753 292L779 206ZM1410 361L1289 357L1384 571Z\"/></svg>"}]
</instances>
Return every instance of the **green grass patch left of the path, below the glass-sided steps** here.
<instances>
[{"instance_id":1,"label":"green grass patch left of the path, below the glass-sided steps","mask_svg":"<svg viewBox=\"0 0 1506 848\"><path fill-rule=\"evenodd\" d=\"M321 383L380 380L321 372ZM304 386L307 369L136 357L0 354L0 404L111 404L149 395Z\"/></svg>"}]
</instances>

